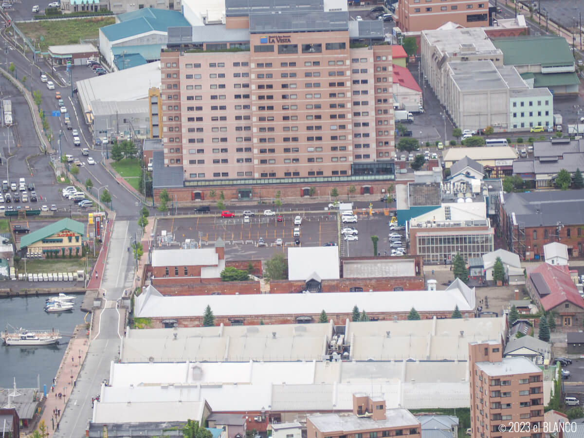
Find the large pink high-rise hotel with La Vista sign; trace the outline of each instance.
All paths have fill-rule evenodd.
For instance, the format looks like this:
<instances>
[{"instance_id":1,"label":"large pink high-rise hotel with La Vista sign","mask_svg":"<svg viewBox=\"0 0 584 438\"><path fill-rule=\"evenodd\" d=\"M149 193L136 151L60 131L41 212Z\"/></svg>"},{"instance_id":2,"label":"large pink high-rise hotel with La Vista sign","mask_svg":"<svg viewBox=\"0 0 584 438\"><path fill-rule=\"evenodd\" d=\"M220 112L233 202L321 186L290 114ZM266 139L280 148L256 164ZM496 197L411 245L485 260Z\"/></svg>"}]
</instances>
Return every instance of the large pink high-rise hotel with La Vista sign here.
<instances>
[{"instance_id":1,"label":"large pink high-rise hotel with La Vista sign","mask_svg":"<svg viewBox=\"0 0 584 438\"><path fill-rule=\"evenodd\" d=\"M213 185L235 189L236 179L248 187L225 196L248 199L257 196L249 186L291 178L392 179L392 57L391 46L376 44L383 38L381 22L323 11L238 13L225 25L169 29L157 117L164 167L182 166L184 186L199 187L192 199Z\"/></svg>"}]
</instances>

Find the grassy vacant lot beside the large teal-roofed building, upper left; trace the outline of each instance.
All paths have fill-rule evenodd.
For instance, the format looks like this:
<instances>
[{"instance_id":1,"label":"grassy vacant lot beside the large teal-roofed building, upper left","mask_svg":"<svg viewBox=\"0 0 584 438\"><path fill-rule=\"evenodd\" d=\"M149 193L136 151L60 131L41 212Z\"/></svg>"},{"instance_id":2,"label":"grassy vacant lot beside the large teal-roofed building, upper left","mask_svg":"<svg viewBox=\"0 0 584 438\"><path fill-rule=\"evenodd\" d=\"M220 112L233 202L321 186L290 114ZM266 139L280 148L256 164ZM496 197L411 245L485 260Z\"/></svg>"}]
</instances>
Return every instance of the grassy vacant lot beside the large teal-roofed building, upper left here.
<instances>
[{"instance_id":1,"label":"grassy vacant lot beside the large teal-roofed building, upper left","mask_svg":"<svg viewBox=\"0 0 584 438\"><path fill-rule=\"evenodd\" d=\"M78 44L79 40L98 39L99 28L113 25L114 17L86 19L43 20L33 23L18 23L18 28L31 40L39 41L42 51L57 44ZM43 36L44 40L40 41Z\"/></svg>"}]
</instances>

